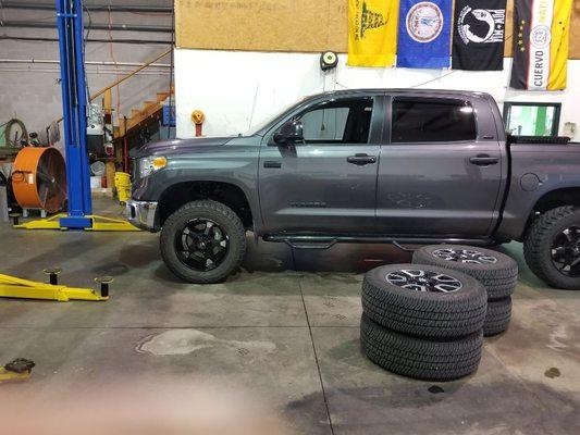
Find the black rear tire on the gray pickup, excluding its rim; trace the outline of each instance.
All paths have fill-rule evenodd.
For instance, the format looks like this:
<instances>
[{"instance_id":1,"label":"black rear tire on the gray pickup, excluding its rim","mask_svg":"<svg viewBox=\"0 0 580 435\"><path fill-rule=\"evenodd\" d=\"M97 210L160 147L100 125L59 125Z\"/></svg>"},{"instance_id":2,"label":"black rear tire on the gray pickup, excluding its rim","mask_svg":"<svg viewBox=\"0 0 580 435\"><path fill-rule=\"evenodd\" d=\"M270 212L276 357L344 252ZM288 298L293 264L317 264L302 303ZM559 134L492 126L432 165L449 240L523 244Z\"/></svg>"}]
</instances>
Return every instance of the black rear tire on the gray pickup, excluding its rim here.
<instances>
[{"instance_id":1,"label":"black rear tire on the gray pickup, excluding its rim","mask_svg":"<svg viewBox=\"0 0 580 435\"><path fill-rule=\"evenodd\" d=\"M552 209L533 221L523 241L523 257L530 270L552 287L580 289L580 277L562 274L552 263L552 241L570 225L580 225L580 209L572 206Z\"/></svg>"}]
</instances>

